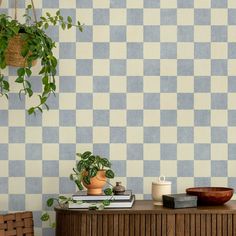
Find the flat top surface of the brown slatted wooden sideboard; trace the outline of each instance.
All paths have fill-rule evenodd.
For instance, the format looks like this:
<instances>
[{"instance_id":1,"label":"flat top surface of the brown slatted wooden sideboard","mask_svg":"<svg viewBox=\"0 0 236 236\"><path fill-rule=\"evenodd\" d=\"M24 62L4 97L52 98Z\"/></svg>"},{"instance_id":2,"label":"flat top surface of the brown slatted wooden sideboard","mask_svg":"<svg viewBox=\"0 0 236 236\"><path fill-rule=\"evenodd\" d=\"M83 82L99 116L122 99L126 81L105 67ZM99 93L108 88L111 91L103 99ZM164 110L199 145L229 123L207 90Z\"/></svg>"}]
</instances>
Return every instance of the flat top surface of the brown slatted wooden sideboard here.
<instances>
[{"instance_id":1,"label":"flat top surface of the brown slatted wooden sideboard","mask_svg":"<svg viewBox=\"0 0 236 236\"><path fill-rule=\"evenodd\" d=\"M54 208L57 213L68 214L236 214L236 200L229 201L221 206L200 206L197 208L170 209L163 206L154 206L151 200L136 200L132 208L105 209L93 211L87 209Z\"/></svg>"}]
</instances>

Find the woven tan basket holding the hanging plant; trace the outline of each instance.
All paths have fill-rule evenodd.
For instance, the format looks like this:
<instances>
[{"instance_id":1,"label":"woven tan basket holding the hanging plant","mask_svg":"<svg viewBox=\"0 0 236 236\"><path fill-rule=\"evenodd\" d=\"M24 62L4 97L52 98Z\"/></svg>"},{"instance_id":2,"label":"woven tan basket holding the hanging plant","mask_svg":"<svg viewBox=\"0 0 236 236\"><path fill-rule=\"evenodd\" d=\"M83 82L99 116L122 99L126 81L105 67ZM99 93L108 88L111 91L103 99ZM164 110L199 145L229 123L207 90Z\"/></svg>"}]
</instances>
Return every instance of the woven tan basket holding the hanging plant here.
<instances>
[{"instance_id":1,"label":"woven tan basket holding the hanging plant","mask_svg":"<svg viewBox=\"0 0 236 236\"><path fill-rule=\"evenodd\" d=\"M27 66L26 58L21 56L21 51L24 45L25 41L21 38L20 34L12 37L9 40L8 47L5 53L6 64L8 66L15 66L15 67ZM36 62L37 61L34 60L32 62L32 66L35 66Z\"/></svg>"}]
</instances>

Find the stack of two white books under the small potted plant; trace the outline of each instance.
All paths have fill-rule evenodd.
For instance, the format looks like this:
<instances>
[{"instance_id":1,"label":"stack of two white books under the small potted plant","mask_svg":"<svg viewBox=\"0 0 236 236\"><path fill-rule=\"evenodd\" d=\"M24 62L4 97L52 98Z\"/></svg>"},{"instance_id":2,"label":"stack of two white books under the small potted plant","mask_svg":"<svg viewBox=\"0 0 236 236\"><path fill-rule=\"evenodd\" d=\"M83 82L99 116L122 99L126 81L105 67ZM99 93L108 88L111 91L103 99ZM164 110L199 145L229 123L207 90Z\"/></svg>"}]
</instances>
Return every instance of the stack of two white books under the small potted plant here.
<instances>
[{"instance_id":1,"label":"stack of two white books under the small potted plant","mask_svg":"<svg viewBox=\"0 0 236 236\"><path fill-rule=\"evenodd\" d=\"M102 195L87 195L87 191L78 191L72 195L72 200L75 202L69 203L69 208L87 209L93 205L102 204L104 200L110 200L110 204L105 208L131 208L134 204L135 196L131 190L126 190L122 195L108 196Z\"/></svg>"}]
</instances>

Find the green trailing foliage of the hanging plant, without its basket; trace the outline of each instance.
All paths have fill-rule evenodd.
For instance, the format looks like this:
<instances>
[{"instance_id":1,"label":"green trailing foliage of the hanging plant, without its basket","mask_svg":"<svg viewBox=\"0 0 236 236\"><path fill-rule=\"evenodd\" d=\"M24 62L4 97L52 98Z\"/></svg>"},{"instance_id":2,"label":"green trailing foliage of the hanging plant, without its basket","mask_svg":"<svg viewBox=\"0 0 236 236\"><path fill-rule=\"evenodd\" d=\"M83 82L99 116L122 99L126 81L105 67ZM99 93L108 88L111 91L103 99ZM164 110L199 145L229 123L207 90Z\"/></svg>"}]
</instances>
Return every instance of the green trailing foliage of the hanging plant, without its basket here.
<instances>
[{"instance_id":1,"label":"green trailing foliage of the hanging plant, without its basket","mask_svg":"<svg viewBox=\"0 0 236 236\"><path fill-rule=\"evenodd\" d=\"M0 95L8 98L7 94L10 91L10 85L1 71L7 66L5 54L9 40L15 36L20 36L24 40L21 55L27 62L24 67L17 69L15 82L22 85L22 89L19 91L20 97L22 93L28 97L32 97L34 92L28 80L32 74L32 63L36 59L39 59L41 64L38 74L41 76L43 91L39 95L38 105L28 109L28 114L33 114L36 110L42 112L44 106L46 109L49 109L46 103L47 99L51 94L55 94L56 91L55 75L57 59L53 55L53 48L56 46L53 39L46 34L45 30L50 25L59 25L63 30L70 29L74 26L82 31L83 27L79 21L74 24L70 16L64 18L60 10L54 16L47 12L45 16L40 17L39 21L32 22L29 14L30 9L32 9L32 5L28 5L26 8L26 13L24 14L26 23L24 24L12 19L10 16L0 14Z\"/></svg>"}]
</instances>

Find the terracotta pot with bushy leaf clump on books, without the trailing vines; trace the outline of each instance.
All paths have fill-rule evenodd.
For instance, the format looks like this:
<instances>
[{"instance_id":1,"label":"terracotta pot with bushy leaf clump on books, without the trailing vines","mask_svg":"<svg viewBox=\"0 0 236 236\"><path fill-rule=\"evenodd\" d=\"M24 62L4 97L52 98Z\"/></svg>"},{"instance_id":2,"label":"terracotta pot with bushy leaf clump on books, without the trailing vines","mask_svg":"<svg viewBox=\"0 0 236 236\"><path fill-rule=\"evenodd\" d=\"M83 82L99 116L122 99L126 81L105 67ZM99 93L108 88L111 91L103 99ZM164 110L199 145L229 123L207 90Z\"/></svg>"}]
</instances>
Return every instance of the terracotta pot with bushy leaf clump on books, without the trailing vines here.
<instances>
[{"instance_id":1,"label":"terracotta pot with bushy leaf clump on books, without the trailing vines","mask_svg":"<svg viewBox=\"0 0 236 236\"><path fill-rule=\"evenodd\" d=\"M90 151L76 155L80 160L73 168L74 173L70 175L70 179L75 182L79 190L85 187L90 195L101 194L103 187L108 183L107 178L112 179L115 176L111 163L107 158L95 156ZM112 194L111 188L106 188L104 191L107 195Z\"/></svg>"}]
</instances>

